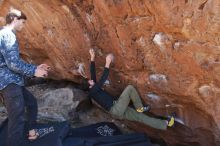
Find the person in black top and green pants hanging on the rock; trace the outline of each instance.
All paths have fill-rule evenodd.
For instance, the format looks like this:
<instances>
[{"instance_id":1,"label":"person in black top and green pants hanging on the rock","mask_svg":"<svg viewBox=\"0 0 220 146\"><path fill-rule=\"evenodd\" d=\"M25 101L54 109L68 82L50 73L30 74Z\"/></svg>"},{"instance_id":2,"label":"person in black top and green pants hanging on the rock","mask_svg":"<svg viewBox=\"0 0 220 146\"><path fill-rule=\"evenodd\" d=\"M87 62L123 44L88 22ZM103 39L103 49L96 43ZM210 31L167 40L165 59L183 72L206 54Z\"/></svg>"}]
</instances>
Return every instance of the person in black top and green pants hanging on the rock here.
<instances>
[{"instance_id":1,"label":"person in black top and green pants hanging on the rock","mask_svg":"<svg viewBox=\"0 0 220 146\"><path fill-rule=\"evenodd\" d=\"M91 56L91 79L83 80L81 86L83 90L89 91L89 98L93 99L105 110L107 110L109 113L119 119L138 121L150 127L161 130L166 130L167 127L172 127L174 125L174 116L170 116L169 118L167 118L167 120L161 120L143 114L144 112L148 112L150 110L150 106L143 106L140 96L132 85L128 85L124 89L118 100L114 101L113 97L108 92L102 89L103 84L108 78L109 67L114 60L114 56L112 54L108 54L106 56L104 72L101 76L101 79L97 82L95 69L95 51L93 49L90 49L89 53ZM128 107L130 101L133 102L135 109Z\"/></svg>"}]
</instances>

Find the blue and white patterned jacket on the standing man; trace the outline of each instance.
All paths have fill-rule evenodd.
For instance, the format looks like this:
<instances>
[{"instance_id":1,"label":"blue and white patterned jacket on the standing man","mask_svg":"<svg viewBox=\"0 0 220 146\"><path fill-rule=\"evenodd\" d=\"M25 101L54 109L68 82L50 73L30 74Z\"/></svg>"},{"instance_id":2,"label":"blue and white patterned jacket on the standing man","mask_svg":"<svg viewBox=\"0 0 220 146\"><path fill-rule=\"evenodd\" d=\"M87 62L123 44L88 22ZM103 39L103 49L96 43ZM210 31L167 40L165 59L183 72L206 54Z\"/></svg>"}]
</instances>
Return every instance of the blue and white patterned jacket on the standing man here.
<instances>
[{"instance_id":1,"label":"blue and white patterned jacket on the standing man","mask_svg":"<svg viewBox=\"0 0 220 146\"><path fill-rule=\"evenodd\" d=\"M34 76L36 66L25 63L19 56L15 33L9 28L0 30L0 90L8 84L24 85L24 76Z\"/></svg>"}]
</instances>

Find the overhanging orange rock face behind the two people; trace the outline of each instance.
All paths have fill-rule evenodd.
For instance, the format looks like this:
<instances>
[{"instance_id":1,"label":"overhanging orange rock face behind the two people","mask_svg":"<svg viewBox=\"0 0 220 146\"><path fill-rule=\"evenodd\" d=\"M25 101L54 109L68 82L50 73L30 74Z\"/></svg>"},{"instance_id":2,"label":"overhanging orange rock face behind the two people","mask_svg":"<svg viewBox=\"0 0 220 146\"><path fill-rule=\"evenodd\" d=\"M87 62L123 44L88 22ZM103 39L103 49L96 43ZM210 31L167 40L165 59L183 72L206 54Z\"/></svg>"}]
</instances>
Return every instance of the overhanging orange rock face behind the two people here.
<instances>
[{"instance_id":1,"label":"overhanging orange rock face behind the two people","mask_svg":"<svg viewBox=\"0 0 220 146\"><path fill-rule=\"evenodd\" d=\"M174 111L184 123L129 125L173 146L220 146L219 0L3 0L0 16L10 6L28 17L22 57L51 65L51 78L79 82L90 48L100 74L112 52L109 91L133 84L152 112Z\"/></svg>"}]
</instances>

